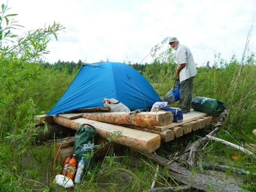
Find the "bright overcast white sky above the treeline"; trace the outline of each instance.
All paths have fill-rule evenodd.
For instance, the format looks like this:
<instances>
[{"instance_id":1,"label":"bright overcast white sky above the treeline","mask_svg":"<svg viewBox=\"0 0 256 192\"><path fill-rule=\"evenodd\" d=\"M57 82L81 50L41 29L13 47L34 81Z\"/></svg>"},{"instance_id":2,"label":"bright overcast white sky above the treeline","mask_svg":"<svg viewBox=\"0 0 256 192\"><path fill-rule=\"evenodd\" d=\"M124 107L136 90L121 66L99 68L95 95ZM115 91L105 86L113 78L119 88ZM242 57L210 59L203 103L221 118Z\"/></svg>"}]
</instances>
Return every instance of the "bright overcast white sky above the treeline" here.
<instances>
[{"instance_id":1,"label":"bright overcast white sky above the treeline","mask_svg":"<svg viewBox=\"0 0 256 192\"><path fill-rule=\"evenodd\" d=\"M189 47L199 65L212 65L218 53L227 61L235 54L240 61L256 24L256 0L9 0L8 6L9 14L19 14L15 20L24 31L53 21L66 27L49 43L44 58L49 63L107 58L140 63L151 47L171 36ZM254 26L249 49L256 52Z\"/></svg>"}]
</instances>

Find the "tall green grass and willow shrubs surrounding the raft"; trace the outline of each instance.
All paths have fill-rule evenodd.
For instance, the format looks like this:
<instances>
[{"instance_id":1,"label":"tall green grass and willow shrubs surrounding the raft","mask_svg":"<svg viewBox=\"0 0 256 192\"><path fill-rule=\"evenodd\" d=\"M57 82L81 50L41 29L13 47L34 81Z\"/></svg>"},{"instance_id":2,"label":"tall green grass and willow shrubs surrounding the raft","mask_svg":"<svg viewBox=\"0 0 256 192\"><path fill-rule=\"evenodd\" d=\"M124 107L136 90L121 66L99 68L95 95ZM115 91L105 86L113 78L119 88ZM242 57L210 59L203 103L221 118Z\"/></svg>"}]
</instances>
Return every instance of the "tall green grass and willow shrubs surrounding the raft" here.
<instances>
[{"instance_id":1,"label":"tall green grass and willow shrubs surrounding the raft","mask_svg":"<svg viewBox=\"0 0 256 192\"><path fill-rule=\"evenodd\" d=\"M64 28L52 26L29 31L23 37L15 35L15 29L22 27L12 19L17 14L6 14L7 5L0 12L0 186L3 191L61 191L62 188L49 182L60 167L52 162L52 148L35 142L38 131L33 118L45 114L58 101L83 64L73 61L45 63L41 56L47 54L47 44ZM172 48L163 50L168 38L151 49L151 64L129 64L145 76L159 96L163 96L174 85L175 56ZM227 105L228 119L217 137L235 144L256 143L251 131L255 128L256 106L256 65L255 54L239 64L235 57L230 62L215 55L215 63L198 67L193 96L218 99ZM177 105L177 104L175 104ZM174 105L174 107L175 107ZM46 130L47 131L47 130ZM115 137L122 134L116 132ZM193 138L192 138L193 139ZM194 137L196 140L197 137ZM235 142L234 142L235 141ZM177 145L179 143L177 142ZM101 146L102 147L102 146ZM178 148L178 147L177 147ZM207 152L202 152L205 160L215 161L215 156L230 159L230 165L243 167L255 172L255 160L238 154L239 161L231 160L236 152L227 150L221 143L211 142ZM252 150L252 149L250 149ZM77 191L142 191L149 189L155 172L150 160L131 153L126 149L124 156L110 153L103 161L96 163L84 176L84 182L76 186ZM49 164L49 166L48 166ZM194 170L195 171L195 170ZM167 174L167 172L165 173ZM124 176L125 175L125 176ZM160 186L169 186L172 180L158 177ZM129 178L129 179L127 179ZM41 183L38 183L41 181ZM99 181L102 181L99 184ZM248 176L247 182L253 182ZM162 184L160 184L162 183ZM245 183L247 189L249 184ZM252 185L253 186L253 185ZM254 184L255 186L255 184Z\"/></svg>"}]
</instances>

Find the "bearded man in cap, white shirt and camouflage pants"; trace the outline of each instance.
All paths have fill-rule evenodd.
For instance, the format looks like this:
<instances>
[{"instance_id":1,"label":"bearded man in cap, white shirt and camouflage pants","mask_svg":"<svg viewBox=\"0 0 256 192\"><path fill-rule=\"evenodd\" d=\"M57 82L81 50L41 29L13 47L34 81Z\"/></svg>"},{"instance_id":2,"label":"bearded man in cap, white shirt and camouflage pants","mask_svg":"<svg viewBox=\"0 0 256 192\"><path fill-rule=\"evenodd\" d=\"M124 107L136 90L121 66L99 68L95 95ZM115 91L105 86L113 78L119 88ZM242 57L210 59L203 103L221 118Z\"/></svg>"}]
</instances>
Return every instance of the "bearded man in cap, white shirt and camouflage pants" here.
<instances>
[{"instance_id":1,"label":"bearded man in cap, white shirt and camouflage pants","mask_svg":"<svg viewBox=\"0 0 256 192\"><path fill-rule=\"evenodd\" d=\"M180 44L176 37L169 39L169 45L175 50L177 63L175 74L180 76L180 109L183 113L188 113L191 108L193 81L197 74L194 58L189 48Z\"/></svg>"}]
</instances>

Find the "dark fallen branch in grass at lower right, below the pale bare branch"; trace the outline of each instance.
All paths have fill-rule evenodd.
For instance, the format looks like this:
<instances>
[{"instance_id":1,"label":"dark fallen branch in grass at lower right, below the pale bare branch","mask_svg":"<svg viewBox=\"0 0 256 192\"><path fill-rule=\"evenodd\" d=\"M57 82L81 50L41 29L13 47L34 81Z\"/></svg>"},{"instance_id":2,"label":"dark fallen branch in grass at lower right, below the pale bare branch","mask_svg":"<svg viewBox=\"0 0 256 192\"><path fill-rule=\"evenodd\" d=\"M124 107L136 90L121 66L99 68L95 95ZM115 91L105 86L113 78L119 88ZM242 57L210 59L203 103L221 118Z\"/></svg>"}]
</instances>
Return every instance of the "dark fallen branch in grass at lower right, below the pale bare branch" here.
<instances>
[{"instance_id":1,"label":"dark fallen branch in grass at lower right, below the pale bare branch","mask_svg":"<svg viewBox=\"0 0 256 192\"><path fill-rule=\"evenodd\" d=\"M213 165L210 163L200 163L200 166L202 166L204 169L214 169L221 172L226 172L227 170L231 170L232 172L240 175L251 175L251 173L248 171L244 171L243 169L238 169L230 166ZM253 173L252 175L256 176L256 173Z\"/></svg>"}]
</instances>

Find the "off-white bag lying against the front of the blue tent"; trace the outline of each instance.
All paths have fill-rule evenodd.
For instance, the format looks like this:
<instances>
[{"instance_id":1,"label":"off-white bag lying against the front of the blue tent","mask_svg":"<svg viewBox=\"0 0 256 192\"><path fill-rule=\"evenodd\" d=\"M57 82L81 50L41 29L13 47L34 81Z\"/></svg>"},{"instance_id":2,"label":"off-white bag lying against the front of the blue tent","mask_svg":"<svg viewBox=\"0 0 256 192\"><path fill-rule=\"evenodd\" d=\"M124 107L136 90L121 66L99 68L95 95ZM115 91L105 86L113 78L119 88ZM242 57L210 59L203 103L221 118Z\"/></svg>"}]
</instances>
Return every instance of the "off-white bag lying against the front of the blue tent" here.
<instances>
[{"instance_id":1,"label":"off-white bag lying against the front of the blue tent","mask_svg":"<svg viewBox=\"0 0 256 192\"><path fill-rule=\"evenodd\" d=\"M110 107L110 112L125 112L130 113L130 109L116 99L103 98L103 104L105 107Z\"/></svg>"}]
</instances>

